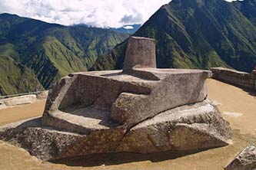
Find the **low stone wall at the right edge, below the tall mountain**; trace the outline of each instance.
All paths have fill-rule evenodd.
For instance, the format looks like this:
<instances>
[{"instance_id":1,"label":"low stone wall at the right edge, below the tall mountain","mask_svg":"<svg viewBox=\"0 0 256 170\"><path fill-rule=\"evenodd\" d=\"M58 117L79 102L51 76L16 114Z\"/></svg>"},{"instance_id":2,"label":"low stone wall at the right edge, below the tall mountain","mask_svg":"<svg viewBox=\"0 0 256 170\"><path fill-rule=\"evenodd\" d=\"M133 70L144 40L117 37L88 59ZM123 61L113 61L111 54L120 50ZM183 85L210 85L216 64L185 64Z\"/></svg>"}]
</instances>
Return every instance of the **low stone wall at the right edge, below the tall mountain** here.
<instances>
[{"instance_id":1,"label":"low stone wall at the right edge, below the tall mountain","mask_svg":"<svg viewBox=\"0 0 256 170\"><path fill-rule=\"evenodd\" d=\"M223 67L211 68L212 78L231 83L234 86L243 87L248 90L255 90L256 74L248 74L238 70L231 70Z\"/></svg>"}]
</instances>

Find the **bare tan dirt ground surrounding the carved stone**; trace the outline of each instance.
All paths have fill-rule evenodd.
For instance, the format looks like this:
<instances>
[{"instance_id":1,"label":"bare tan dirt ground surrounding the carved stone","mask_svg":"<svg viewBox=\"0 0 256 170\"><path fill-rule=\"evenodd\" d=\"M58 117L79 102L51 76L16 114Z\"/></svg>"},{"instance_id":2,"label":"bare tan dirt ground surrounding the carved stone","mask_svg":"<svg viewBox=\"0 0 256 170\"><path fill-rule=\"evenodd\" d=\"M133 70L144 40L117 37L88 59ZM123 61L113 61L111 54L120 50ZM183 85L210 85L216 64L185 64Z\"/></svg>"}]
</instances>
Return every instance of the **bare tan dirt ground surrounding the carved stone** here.
<instances>
[{"instance_id":1,"label":"bare tan dirt ground surrounding the carved stone","mask_svg":"<svg viewBox=\"0 0 256 170\"><path fill-rule=\"evenodd\" d=\"M0 169L54 169L54 170L223 170L241 149L252 143L256 144L256 99L238 87L233 87L216 80L208 80L208 98L218 104L218 108L228 119L234 130L232 145L210 149L186 156L170 153L153 155L111 154L95 155L68 159L58 163L41 162L6 142L0 141ZM0 125L15 122L32 116L42 115L45 103L33 103L0 110Z\"/></svg>"}]
</instances>

